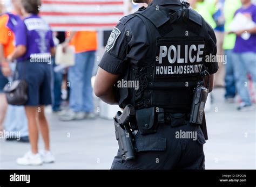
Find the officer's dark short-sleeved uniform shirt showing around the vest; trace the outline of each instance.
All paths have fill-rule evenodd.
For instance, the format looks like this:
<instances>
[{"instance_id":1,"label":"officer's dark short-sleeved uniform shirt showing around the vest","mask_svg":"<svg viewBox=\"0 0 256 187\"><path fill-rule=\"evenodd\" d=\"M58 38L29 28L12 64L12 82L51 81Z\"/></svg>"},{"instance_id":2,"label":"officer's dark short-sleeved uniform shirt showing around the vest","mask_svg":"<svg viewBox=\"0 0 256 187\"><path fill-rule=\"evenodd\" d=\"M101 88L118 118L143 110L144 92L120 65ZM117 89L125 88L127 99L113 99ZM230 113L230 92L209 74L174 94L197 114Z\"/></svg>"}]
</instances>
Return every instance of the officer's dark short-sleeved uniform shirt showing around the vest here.
<instances>
[{"instance_id":1,"label":"officer's dark short-sleeved uniform shirt showing around the vest","mask_svg":"<svg viewBox=\"0 0 256 187\"><path fill-rule=\"evenodd\" d=\"M155 0L150 6L153 4L177 8L177 10L181 6L180 0ZM207 55L215 55L217 53L216 38L210 25L208 25L208 33L214 45L210 47ZM124 74L127 71L127 63L136 64L146 56L149 50L148 38L147 28L139 17L129 15L122 18L110 35L99 67L111 74ZM210 74L218 70L218 63L208 62L205 66Z\"/></svg>"}]
</instances>

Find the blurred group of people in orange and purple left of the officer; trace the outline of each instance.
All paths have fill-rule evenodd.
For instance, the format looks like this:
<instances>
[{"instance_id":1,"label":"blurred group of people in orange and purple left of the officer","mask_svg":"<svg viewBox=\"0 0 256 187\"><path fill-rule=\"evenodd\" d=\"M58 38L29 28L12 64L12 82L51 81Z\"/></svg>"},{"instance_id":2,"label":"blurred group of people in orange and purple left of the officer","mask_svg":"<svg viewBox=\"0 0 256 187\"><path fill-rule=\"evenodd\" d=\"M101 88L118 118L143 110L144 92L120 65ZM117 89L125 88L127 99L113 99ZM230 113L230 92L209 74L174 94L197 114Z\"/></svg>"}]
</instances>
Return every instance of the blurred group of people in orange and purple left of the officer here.
<instances>
[{"instance_id":1,"label":"blurred group of people in orange and purple left of the officer","mask_svg":"<svg viewBox=\"0 0 256 187\"><path fill-rule=\"evenodd\" d=\"M45 106L51 105L63 121L95 118L91 78L98 47L97 32L52 32L39 16L40 0L12 0L11 3L10 12L0 3L0 128L2 132L19 132L20 142L30 142L31 150L17 159L18 164L54 162ZM58 45L63 53L74 46L74 66L57 68ZM8 105L6 100L4 87L11 87L14 79L28 84L24 106ZM42 150L38 149L39 132L45 145ZM5 139L13 141L17 137L6 135Z\"/></svg>"}]
</instances>

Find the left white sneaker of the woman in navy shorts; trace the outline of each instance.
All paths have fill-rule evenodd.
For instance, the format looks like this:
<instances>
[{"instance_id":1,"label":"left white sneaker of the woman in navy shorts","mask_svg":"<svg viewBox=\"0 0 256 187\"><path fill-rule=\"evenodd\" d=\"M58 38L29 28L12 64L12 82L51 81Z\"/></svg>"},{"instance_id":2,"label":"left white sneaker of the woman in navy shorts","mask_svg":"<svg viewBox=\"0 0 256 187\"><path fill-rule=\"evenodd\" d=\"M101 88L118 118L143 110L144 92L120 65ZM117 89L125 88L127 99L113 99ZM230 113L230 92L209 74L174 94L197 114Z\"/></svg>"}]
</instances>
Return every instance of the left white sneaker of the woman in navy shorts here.
<instances>
[{"instance_id":1,"label":"left white sneaker of the woman in navy shorts","mask_svg":"<svg viewBox=\"0 0 256 187\"><path fill-rule=\"evenodd\" d=\"M43 164L41 156L38 153L33 154L32 152L26 153L23 157L18 158L16 162L23 166L38 166Z\"/></svg>"}]
</instances>

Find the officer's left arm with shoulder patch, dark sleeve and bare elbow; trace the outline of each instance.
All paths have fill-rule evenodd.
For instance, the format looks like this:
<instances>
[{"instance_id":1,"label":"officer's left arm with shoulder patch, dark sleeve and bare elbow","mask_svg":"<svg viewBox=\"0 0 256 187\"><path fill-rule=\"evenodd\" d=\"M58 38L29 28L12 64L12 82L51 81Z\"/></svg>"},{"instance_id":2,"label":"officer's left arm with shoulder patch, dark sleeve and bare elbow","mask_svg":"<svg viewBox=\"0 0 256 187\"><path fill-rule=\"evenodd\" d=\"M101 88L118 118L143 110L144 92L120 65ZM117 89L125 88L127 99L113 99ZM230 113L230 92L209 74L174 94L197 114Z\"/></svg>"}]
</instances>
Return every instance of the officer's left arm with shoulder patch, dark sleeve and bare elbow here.
<instances>
[{"instance_id":1,"label":"officer's left arm with shoulder patch, dark sleeve and bare elbow","mask_svg":"<svg viewBox=\"0 0 256 187\"><path fill-rule=\"evenodd\" d=\"M127 33L129 33L127 35ZM132 32L120 23L114 27L107 41L106 52L99 63L94 92L107 104L118 104L117 90L114 84L124 75L127 67L127 54Z\"/></svg>"}]
</instances>

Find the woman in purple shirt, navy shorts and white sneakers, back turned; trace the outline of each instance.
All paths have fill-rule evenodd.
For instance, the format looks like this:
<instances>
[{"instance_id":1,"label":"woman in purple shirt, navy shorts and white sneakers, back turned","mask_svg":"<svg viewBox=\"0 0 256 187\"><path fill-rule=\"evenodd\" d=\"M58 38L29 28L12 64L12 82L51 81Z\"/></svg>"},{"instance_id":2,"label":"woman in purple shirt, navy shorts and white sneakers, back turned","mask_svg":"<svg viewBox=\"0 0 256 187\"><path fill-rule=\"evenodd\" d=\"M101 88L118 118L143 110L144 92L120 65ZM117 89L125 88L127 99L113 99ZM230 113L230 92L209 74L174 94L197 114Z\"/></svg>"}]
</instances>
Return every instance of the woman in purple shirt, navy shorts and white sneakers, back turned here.
<instances>
[{"instance_id":1,"label":"woman in purple shirt, navy shorts and white sneakers, back turned","mask_svg":"<svg viewBox=\"0 0 256 187\"><path fill-rule=\"evenodd\" d=\"M28 83L28 102L25 104L29 124L31 151L17 159L21 165L41 165L54 162L50 152L49 126L44 106L51 104L51 55L55 53L50 26L38 16L40 0L22 0L24 20L15 31L16 49L8 56L17 60L18 75ZM38 126L41 129L45 149L38 152Z\"/></svg>"}]
</instances>

